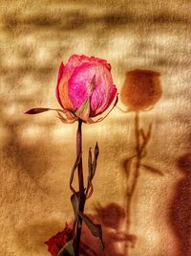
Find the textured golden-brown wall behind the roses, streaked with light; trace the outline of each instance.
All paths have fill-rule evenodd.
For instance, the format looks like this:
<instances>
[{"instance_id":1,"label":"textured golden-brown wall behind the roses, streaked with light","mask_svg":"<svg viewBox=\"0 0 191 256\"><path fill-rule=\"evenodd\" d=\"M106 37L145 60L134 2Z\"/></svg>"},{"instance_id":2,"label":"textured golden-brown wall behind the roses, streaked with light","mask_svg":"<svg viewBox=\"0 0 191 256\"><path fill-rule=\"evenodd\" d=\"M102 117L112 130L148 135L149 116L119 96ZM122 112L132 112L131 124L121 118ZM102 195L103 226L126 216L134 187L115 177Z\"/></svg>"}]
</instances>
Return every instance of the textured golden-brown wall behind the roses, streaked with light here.
<instances>
[{"instance_id":1,"label":"textured golden-brown wall behind the roses, streaked with light","mask_svg":"<svg viewBox=\"0 0 191 256\"><path fill-rule=\"evenodd\" d=\"M162 87L158 104L140 113L140 124L153 124L144 161L164 175L140 170L131 207L135 247L124 252L124 244L111 242L112 254L98 255L191 255L190 4L0 1L2 256L49 255L44 242L72 218L68 180L76 124L63 125L54 113L23 113L35 106L58 106L58 65L74 53L106 58L119 92L126 72L135 68L159 72ZM94 214L98 202L103 207L117 203L125 211L122 163L135 153L134 118L135 113L115 108L102 123L84 126L84 159L96 141L100 147L87 212ZM117 232L126 232L120 224Z\"/></svg>"}]
</instances>

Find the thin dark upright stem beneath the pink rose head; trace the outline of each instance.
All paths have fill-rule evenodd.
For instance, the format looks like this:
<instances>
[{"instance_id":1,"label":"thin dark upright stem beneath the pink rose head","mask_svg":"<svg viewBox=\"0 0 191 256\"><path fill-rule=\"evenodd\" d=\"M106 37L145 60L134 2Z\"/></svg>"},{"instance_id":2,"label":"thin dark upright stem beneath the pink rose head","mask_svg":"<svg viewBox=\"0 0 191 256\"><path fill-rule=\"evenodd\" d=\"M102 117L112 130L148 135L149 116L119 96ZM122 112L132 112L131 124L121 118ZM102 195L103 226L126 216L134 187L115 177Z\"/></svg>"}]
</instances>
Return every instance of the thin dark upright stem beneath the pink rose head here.
<instances>
[{"instance_id":1,"label":"thin dark upright stem beneath the pink rose head","mask_svg":"<svg viewBox=\"0 0 191 256\"><path fill-rule=\"evenodd\" d=\"M78 128L76 132L76 155L82 153L82 120L78 120ZM84 204L85 204L85 195L84 195L84 180L83 180L83 166L82 166L82 156L80 157L79 164L77 166L78 172L78 184L79 184L79 211L83 213ZM79 255L79 247L80 247L80 236L81 236L81 227L82 227L82 219L78 216L76 221L76 236L74 243L74 255Z\"/></svg>"}]
</instances>

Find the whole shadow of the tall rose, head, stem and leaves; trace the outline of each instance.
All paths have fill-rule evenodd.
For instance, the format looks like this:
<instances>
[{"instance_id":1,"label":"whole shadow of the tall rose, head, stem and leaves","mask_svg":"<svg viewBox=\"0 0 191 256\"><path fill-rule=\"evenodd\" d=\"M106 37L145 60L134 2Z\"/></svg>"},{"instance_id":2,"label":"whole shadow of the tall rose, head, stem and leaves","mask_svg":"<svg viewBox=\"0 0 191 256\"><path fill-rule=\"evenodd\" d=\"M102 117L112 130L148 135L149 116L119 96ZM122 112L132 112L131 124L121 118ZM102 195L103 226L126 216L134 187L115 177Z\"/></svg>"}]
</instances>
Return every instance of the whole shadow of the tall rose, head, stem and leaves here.
<instances>
[{"instance_id":1,"label":"whole shadow of the tall rose, head, stem and leaves","mask_svg":"<svg viewBox=\"0 0 191 256\"><path fill-rule=\"evenodd\" d=\"M122 86L120 99L127 110L123 112L135 112L135 153L124 160L123 168L127 178L126 188L126 230L129 232L131 224L131 204L138 186L140 170L144 169L154 175L163 175L158 169L145 162L148 143L152 135L152 124L145 130L139 124L140 111L148 111L154 107L161 97L161 85L159 73L152 70L133 70L127 72L125 82ZM126 246L125 255L128 255Z\"/></svg>"}]
</instances>

